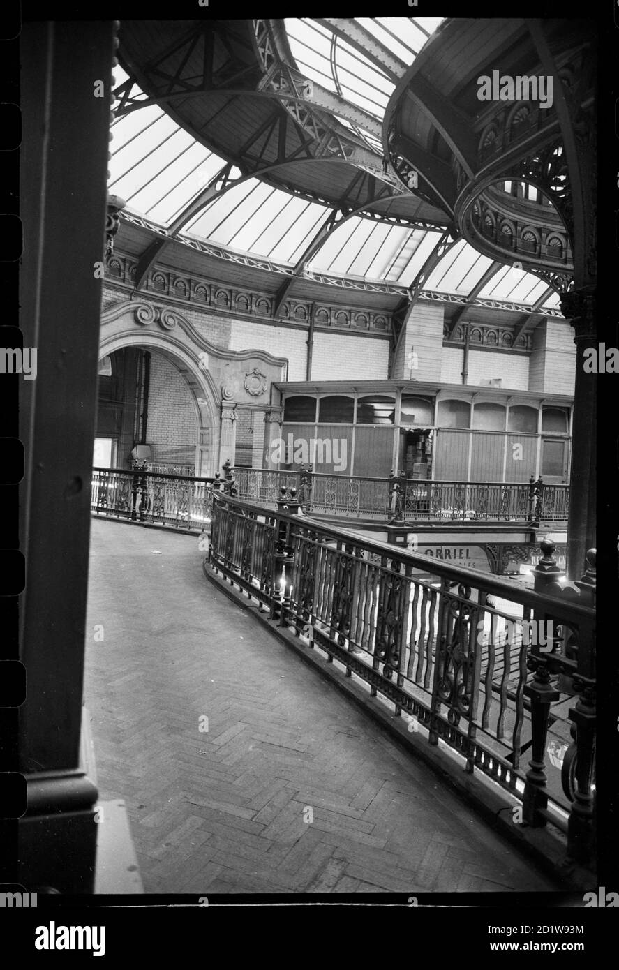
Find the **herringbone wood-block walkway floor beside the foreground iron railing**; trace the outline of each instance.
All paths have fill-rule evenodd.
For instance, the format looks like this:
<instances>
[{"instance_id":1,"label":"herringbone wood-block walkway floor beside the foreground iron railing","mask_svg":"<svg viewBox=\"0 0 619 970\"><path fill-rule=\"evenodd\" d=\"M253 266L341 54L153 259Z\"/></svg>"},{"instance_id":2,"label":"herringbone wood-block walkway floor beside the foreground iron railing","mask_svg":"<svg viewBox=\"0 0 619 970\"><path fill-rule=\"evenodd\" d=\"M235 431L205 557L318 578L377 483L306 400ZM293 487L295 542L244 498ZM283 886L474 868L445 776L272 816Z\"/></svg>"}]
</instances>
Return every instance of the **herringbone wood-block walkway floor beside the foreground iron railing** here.
<instances>
[{"instance_id":1,"label":"herringbone wood-block walkway floor beside the foreground iron railing","mask_svg":"<svg viewBox=\"0 0 619 970\"><path fill-rule=\"evenodd\" d=\"M85 703L145 892L560 889L217 591L203 555L91 524Z\"/></svg>"}]
</instances>

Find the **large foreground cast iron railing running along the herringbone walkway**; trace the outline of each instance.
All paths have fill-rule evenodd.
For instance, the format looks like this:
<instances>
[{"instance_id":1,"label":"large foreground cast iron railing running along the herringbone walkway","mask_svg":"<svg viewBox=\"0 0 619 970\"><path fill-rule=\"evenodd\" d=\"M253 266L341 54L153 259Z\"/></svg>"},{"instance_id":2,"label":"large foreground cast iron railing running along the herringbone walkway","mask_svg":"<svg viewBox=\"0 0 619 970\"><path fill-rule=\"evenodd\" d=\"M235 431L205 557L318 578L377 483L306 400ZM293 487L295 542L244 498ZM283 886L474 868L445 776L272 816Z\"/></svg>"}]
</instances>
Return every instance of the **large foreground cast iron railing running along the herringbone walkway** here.
<instances>
[{"instance_id":1,"label":"large foreground cast iron railing running along the herringbone walkway","mask_svg":"<svg viewBox=\"0 0 619 970\"><path fill-rule=\"evenodd\" d=\"M513 795L523 822L567 832L569 857L592 865L595 550L564 589L554 543L542 541L529 590L299 511L295 489L275 511L214 494L205 570Z\"/></svg>"}]
</instances>

